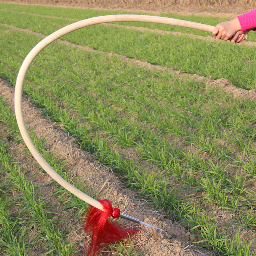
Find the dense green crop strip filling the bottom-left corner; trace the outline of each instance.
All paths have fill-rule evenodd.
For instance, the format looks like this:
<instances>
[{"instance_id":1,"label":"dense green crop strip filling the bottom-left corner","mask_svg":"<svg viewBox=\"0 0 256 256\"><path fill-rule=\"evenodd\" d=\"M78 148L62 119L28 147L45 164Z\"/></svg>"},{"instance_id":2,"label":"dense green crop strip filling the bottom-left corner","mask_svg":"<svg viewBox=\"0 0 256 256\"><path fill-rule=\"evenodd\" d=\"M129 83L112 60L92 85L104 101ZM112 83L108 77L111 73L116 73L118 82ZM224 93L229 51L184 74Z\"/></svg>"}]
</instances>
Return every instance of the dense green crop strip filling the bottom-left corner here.
<instances>
[{"instance_id":1,"label":"dense green crop strip filling the bottom-left corner","mask_svg":"<svg viewBox=\"0 0 256 256\"><path fill-rule=\"evenodd\" d=\"M1 184L3 188L7 188L6 195L0 198L1 251L7 253L6 255L28 255L31 250L29 248L40 242L46 246L46 254L54 255L52 252L55 251L59 255L71 255L71 243L66 245L63 234L52 219L53 213L45 209L45 200L42 202L42 199L39 199L35 185L15 164L4 144L1 144L0 159L1 172L8 173ZM18 198L10 195L12 191L20 194ZM19 210L15 211L17 206ZM30 241L28 234L34 227L38 227L39 235Z\"/></svg>"}]
</instances>

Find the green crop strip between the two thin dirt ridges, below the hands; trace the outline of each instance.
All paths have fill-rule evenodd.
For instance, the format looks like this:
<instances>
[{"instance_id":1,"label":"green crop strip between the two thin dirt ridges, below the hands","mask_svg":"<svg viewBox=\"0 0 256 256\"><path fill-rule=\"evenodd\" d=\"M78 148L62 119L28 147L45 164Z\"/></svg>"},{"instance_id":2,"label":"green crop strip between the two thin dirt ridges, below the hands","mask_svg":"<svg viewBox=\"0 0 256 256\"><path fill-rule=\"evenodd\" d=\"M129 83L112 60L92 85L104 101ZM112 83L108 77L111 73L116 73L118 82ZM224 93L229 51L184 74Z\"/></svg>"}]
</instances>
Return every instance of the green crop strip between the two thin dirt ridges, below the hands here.
<instances>
[{"instance_id":1,"label":"green crop strip between the two thin dirt ridges, below the hands","mask_svg":"<svg viewBox=\"0 0 256 256\"><path fill-rule=\"evenodd\" d=\"M0 22L49 34L67 25L65 19L1 11ZM253 33L253 32L251 32ZM186 36L159 35L104 25L77 30L63 37L78 45L173 67L186 73L226 78L245 89L256 87L255 48L227 42L205 42Z\"/></svg>"}]
</instances>

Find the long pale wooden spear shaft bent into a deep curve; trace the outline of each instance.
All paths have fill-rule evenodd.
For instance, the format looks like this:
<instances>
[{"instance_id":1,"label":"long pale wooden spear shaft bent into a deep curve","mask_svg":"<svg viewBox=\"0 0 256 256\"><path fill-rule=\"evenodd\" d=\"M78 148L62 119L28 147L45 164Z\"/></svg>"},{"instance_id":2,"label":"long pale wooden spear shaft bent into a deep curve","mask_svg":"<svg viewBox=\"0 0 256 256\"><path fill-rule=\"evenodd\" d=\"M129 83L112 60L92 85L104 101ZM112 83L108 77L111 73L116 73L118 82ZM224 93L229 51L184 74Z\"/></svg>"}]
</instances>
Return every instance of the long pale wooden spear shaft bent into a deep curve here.
<instances>
[{"instance_id":1,"label":"long pale wooden spear shaft bent into a deep curve","mask_svg":"<svg viewBox=\"0 0 256 256\"><path fill-rule=\"evenodd\" d=\"M30 150L31 154L34 156L36 161L41 165L41 167L61 186L71 192L73 195L77 196L78 198L82 199L83 201L91 204L92 206L102 210L103 207L100 202L97 200L89 197L79 189L72 186L66 180L64 180L52 167L45 161L42 155L37 150L36 146L32 142L29 133L26 128L26 124L23 118L23 111L22 111L22 91L23 91L23 83L25 80L25 76L27 73L30 64L42 51L47 45L54 42L56 39L64 36L72 31L78 30L83 27L91 26L94 24L106 23L106 22L117 22L117 21L138 21L138 22L152 22L152 23L162 23L167 25L174 25L180 27L188 27L197 30L204 30L207 32L212 32L213 26L195 23L186 20L177 20L173 18L167 17L158 17L158 16L150 16L150 15L134 15L134 14L119 14L119 15L106 15L106 16L99 16L93 17L86 20L80 20L73 24L70 24L66 27L61 28L60 30L55 31L54 33L50 34L49 36L45 37L42 41L40 41L27 55L24 59L19 73L17 75L16 86L15 86L15 93L14 93L14 108L15 108L15 115L16 120L20 129L21 136L24 139L28 149Z\"/></svg>"}]
</instances>

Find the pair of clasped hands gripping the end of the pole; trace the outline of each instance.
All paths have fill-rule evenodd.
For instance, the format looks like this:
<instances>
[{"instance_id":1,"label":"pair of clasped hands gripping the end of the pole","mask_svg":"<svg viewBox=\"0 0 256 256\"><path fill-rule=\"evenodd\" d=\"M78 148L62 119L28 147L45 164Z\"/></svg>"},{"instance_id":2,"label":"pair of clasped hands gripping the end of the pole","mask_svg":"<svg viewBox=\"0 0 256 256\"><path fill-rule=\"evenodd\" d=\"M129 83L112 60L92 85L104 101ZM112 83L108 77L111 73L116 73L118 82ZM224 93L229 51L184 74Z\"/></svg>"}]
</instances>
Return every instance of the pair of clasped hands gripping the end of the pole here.
<instances>
[{"instance_id":1,"label":"pair of clasped hands gripping the end of the pole","mask_svg":"<svg viewBox=\"0 0 256 256\"><path fill-rule=\"evenodd\" d=\"M242 32L238 18L221 22L213 29L212 35L215 39L220 39L231 43L241 43L245 40L245 35L249 31Z\"/></svg>"}]
</instances>

